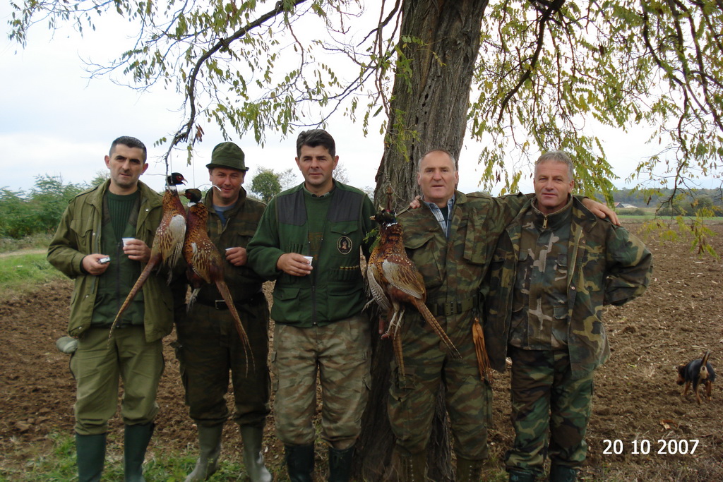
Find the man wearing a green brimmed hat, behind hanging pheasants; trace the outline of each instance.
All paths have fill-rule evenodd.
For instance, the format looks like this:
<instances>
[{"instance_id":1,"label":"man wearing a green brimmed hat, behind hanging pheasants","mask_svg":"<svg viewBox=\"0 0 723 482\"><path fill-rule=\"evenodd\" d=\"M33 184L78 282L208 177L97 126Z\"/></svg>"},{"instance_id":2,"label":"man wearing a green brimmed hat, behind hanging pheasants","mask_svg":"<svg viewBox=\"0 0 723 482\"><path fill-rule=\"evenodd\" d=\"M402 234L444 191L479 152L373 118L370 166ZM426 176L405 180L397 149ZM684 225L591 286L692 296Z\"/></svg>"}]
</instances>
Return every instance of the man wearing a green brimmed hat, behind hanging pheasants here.
<instances>
[{"instance_id":1,"label":"man wearing a green brimmed hat, behind hanging pheasants","mask_svg":"<svg viewBox=\"0 0 723 482\"><path fill-rule=\"evenodd\" d=\"M226 280L249 337L251 357L244 358L234 319L215 285L205 285L189 311L176 315L176 356L186 389L189 415L198 427L200 455L186 482L205 481L218 469L223 423L228 418L225 395L228 372L234 384L234 421L241 429L244 464L253 482L271 481L264 466L261 442L269 409L269 311L261 289L263 280L246 266L246 245L254 236L265 205L247 198L241 186L248 168L244 151L233 142L213 148L206 165L211 189L208 236L225 256ZM176 293L185 296L187 285Z\"/></svg>"}]
</instances>

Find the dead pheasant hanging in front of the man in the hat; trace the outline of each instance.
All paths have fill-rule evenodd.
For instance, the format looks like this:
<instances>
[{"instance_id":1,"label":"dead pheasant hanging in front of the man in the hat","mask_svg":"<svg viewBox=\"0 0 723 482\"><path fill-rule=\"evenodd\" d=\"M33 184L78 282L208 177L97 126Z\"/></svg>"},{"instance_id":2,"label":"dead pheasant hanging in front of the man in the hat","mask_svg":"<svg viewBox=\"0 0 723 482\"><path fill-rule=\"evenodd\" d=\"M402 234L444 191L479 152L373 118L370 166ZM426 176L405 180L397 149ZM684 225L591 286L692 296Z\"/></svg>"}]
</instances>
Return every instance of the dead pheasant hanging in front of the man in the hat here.
<instances>
[{"instance_id":1,"label":"dead pheasant hanging in front of the man in the hat","mask_svg":"<svg viewBox=\"0 0 723 482\"><path fill-rule=\"evenodd\" d=\"M244 343L244 352L248 358L249 338L246 335L246 330L244 330L244 325L241 324L239 312L236 311L231 291L228 291L226 281L223 280L223 259L213 241L208 237L208 233L206 233L208 209L201 202L201 191L186 189L184 196L189 199L188 229L183 248L184 257L188 263L187 276L193 288L189 306L196 299L203 283L215 283L223 301L226 301L228 311L231 311L231 316L234 317L236 331L239 332L241 342Z\"/></svg>"}]
</instances>

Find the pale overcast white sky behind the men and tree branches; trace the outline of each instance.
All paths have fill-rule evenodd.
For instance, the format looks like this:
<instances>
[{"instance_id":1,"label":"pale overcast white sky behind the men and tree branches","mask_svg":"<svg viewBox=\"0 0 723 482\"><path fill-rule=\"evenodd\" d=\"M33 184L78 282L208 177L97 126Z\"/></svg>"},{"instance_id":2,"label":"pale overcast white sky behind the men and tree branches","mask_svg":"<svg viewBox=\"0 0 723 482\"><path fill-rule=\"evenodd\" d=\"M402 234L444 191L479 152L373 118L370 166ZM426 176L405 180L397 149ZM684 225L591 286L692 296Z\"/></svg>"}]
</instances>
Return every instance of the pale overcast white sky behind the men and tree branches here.
<instances>
[{"instance_id":1,"label":"pale overcast white sky behind the men and tree branches","mask_svg":"<svg viewBox=\"0 0 723 482\"><path fill-rule=\"evenodd\" d=\"M111 141L131 135L141 139L149 150L150 168L142 181L153 189L163 189L165 167L160 159L167 146L154 147L153 142L163 136L170 138L175 132L181 121L181 113L175 112L181 104L180 95L164 91L161 86L140 93L115 85L107 77L89 80L83 69L83 60L103 64L129 48L126 35L134 35L135 31L122 31L129 23L114 19L111 25L116 25L115 31L86 29L81 38L71 27L52 34L41 22L30 29L27 47L22 48L7 39L10 12L7 0L0 0L4 34L0 40L0 145L5 152L0 188L29 191L35 176L42 174L62 176L64 182L90 181L97 171L106 170L103 156ZM117 17L114 13L108 16ZM208 182L204 166L210 161L213 147L223 141L215 125L202 126L205 137L196 145L193 168L186 165L185 153L177 155L171 166L190 180L189 186ZM330 121L328 131L336 140L339 162L346 168L350 184L359 188L375 186L383 149L378 124L369 129L369 137L365 138L361 126L339 114ZM298 131L286 139L268 134L263 148L256 145L252 134L231 139L246 153L251 168L247 187L257 173L255 166L277 172L294 168L298 173L294 163L296 134ZM596 134L602 136L609 162L620 177L615 181L617 186L624 186L624 179L641 157L654 152L653 147L644 145L646 135L641 132L625 135L605 128ZM459 162L459 189L463 192L479 189L480 150L480 145L471 141L463 147ZM301 181L301 176L298 179ZM531 191L531 182L524 179L529 176L523 176L521 189Z\"/></svg>"}]
</instances>

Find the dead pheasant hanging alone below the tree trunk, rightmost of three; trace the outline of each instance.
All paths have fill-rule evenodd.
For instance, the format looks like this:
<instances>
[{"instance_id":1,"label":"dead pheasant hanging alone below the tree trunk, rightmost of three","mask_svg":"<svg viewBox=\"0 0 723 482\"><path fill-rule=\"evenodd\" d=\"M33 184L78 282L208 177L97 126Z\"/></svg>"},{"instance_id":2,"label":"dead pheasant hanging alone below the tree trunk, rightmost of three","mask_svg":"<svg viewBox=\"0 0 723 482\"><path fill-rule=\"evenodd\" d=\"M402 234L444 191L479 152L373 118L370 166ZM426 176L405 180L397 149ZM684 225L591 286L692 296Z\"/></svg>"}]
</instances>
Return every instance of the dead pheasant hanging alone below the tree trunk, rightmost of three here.
<instances>
[{"instance_id":1,"label":"dead pheasant hanging alone below the tree trunk, rightmost of three","mask_svg":"<svg viewBox=\"0 0 723 482\"><path fill-rule=\"evenodd\" d=\"M399 365L399 376L404 378L404 361L400 328L406 304L411 304L422 314L424 320L440 336L454 356L460 354L452 340L442 330L432 313L424 304L427 289L424 287L422 273L404 251L402 227L394 212L380 209L373 220L379 223L380 240L367 264L367 282L380 308L387 310L388 328L382 337L391 337L394 354Z\"/></svg>"}]
</instances>

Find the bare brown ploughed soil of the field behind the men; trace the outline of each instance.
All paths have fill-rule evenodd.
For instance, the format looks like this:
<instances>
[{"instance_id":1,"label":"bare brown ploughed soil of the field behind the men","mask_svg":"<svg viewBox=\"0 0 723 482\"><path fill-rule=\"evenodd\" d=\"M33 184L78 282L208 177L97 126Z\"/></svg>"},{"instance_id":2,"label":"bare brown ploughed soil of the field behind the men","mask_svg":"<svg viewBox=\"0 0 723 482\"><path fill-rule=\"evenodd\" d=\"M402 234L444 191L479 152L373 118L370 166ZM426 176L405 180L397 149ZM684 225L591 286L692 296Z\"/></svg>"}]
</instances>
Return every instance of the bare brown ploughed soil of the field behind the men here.
<instances>
[{"instance_id":1,"label":"bare brown ploughed soil of the field behind the men","mask_svg":"<svg viewBox=\"0 0 723 482\"><path fill-rule=\"evenodd\" d=\"M637 226L630 225L631 231ZM723 254L723 226L712 226L714 249ZM642 298L607 310L610 361L596 372L596 393L583 478L590 481L723 480L723 379L713 400L701 405L680 396L675 366L706 349L723 371L723 261L698 259L689 241L648 241L654 280ZM55 340L64 335L72 285L56 282L32 296L0 306L0 452L3 465L20 466L47 453L48 434L72 433L74 382L69 357ZM195 432L187 418L178 366L165 341L156 436L150 455L163 449L193 449ZM720 374L719 374L720 376ZM509 378L495 381L495 423L489 432L497 463L513 439L508 422ZM273 418L265 442L271 465L281 464ZM114 418L111 430L120 433ZM229 423L224 457L239 457L239 436ZM236 449L234 449L236 447ZM235 452L234 452L235 450ZM1 468L1 466L0 466Z\"/></svg>"}]
</instances>

